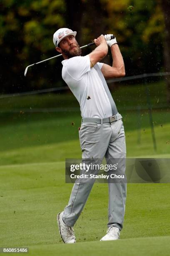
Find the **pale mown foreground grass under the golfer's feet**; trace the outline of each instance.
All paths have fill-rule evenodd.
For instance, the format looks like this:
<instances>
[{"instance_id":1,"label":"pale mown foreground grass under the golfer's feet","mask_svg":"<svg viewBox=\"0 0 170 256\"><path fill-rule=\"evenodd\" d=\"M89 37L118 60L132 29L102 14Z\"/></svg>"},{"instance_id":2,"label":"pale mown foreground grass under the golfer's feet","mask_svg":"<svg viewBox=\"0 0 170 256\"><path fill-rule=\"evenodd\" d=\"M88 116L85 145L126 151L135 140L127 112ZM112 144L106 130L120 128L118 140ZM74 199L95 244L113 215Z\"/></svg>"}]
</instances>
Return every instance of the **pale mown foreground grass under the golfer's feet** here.
<instances>
[{"instance_id":1,"label":"pale mown foreground grass under the golfer's feet","mask_svg":"<svg viewBox=\"0 0 170 256\"><path fill-rule=\"evenodd\" d=\"M146 248L156 253L153 241L157 241L157 246L160 244L163 252L166 252L163 243L168 243L170 239L170 226L167 225L169 184L128 184L122 241L120 244L104 243L104 248L100 251L99 239L107 229L107 184L98 183L94 185L75 225L77 244L70 251L69 246L62 244L56 223L56 214L67 204L72 187L72 184L65 184L64 168L65 162L0 167L0 216L3 230L0 246L28 246L32 255L48 255L48 250L52 251L52 255L78 255L79 250L98 255L103 250L109 254L114 245L117 249L120 245L128 246L130 251L131 246L138 249L136 243L141 248L146 243ZM152 246L148 238L152 241ZM87 242L91 243L91 247L90 244L87 246ZM47 254L43 254L43 248ZM125 253L127 249L121 251ZM130 255L130 251L125 255ZM154 255L163 255L155 253ZM117 251L116 255L120 255L120 252Z\"/></svg>"}]
</instances>

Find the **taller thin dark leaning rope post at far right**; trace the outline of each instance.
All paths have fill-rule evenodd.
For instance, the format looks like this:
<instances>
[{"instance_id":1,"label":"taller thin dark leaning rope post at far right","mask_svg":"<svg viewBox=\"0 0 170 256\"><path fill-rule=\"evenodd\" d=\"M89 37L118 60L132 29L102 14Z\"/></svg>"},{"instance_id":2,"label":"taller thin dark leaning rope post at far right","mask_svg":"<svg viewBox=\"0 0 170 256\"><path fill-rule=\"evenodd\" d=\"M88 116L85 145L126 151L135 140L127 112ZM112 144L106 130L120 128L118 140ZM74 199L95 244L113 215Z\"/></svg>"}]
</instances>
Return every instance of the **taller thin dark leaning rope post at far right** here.
<instances>
[{"instance_id":1,"label":"taller thin dark leaning rope post at far right","mask_svg":"<svg viewBox=\"0 0 170 256\"><path fill-rule=\"evenodd\" d=\"M143 76L144 76L144 80L145 80L145 90L146 90L146 97L147 97L148 110L149 110L150 127L151 127L152 138L153 138L153 147L154 147L155 151L157 151L155 131L154 131L154 126L153 126L152 108L151 108L151 102L150 102L150 94L149 94L148 83L147 83L147 74L143 74Z\"/></svg>"}]
</instances>

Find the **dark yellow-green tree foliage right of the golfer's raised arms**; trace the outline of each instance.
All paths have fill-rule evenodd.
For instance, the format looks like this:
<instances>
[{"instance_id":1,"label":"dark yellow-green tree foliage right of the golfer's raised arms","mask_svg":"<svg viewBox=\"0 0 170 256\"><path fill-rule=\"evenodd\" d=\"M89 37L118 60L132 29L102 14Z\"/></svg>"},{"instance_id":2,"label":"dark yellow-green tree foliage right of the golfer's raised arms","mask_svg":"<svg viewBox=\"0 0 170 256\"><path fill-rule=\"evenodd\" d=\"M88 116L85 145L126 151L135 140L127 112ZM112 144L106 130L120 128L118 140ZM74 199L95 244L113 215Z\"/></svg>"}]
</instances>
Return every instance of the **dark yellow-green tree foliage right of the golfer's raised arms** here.
<instances>
[{"instance_id":1,"label":"dark yellow-green tree foliage right of the golfer's raised arms","mask_svg":"<svg viewBox=\"0 0 170 256\"><path fill-rule=\"evenodd\" d=\"M163 19L157 1L105 0L105 3L107 32L112 28L120 42L126 74L160 71L163 66ZM128 8L129 5L133 8Z\"/></svg>"}]
</instances>

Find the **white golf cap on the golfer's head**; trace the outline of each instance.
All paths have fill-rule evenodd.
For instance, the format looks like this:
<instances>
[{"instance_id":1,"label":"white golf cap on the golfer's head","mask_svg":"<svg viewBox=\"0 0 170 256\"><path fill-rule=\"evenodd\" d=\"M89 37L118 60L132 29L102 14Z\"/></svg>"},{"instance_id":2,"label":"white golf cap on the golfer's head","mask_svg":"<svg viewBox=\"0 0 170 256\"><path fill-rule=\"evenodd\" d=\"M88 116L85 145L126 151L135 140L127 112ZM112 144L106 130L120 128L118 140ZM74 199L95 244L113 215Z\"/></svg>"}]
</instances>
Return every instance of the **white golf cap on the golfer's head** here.
<instances>
[{"instance_id":1,"label":"white golf cap on the golfer's head","mask_svg":"<svg viewBox=\"0 0 170 256\"><path fill-rule=\"evenodd\" d=\"M76 36L77 32L72 31L70 28L60 28L53 35L53 43L57 47L60 41L66 36Z\"/></svg>"}]
</instances>

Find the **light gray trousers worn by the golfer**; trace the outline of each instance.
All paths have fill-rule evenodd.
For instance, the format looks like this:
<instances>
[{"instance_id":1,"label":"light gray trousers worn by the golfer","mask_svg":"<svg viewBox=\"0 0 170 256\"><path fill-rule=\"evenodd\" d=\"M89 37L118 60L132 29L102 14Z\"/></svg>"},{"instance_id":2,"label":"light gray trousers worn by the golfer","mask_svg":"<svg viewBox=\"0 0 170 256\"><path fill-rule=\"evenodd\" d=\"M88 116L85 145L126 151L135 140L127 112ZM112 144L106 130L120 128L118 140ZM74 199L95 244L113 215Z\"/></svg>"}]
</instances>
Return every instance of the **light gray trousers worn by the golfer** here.
<instances>
[{"instance_id":1,"label":"light gray trousers worn by the golfer","mask_svg":"<svg viewBox=\"0 0 170 256\"><path fill-rule=\"evenodd\" d=\"M112 123L82 123L79 131L82 159L103 159L107 164L110 159L126 157L125 132L122 119ZM125 174L125 164L121 166L121 172ZM74 226L80 216L93 183L75 182L68 205L64 209L63 221ZM126 183L108 183L108 228L115 226L122 229L125 215Z\"/></svg>"}]
</instances>

